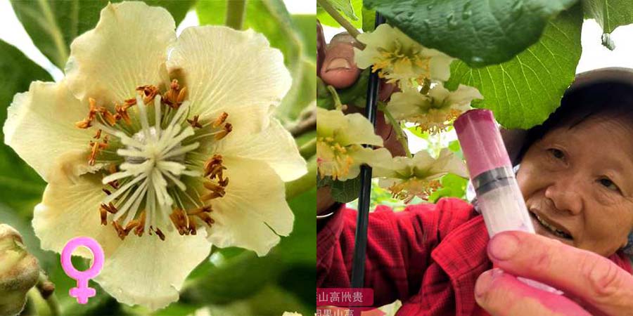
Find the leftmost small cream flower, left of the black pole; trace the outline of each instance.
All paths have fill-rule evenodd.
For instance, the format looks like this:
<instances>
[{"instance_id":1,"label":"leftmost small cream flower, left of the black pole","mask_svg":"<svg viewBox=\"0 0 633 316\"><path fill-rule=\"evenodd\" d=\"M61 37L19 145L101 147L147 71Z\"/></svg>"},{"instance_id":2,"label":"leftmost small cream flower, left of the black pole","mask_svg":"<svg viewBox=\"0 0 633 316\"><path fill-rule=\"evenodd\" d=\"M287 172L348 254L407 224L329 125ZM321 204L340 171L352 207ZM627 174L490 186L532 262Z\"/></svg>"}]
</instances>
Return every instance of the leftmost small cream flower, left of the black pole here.
<instances>
[{"instance_id":1,"label":"leftmost small cream flower, left of the black pole","mask_svg":"<svg viewBox=\"0 0 633 316\"><path fill-rule=\"evenodd\" d=\"M334 180L353 179L362 164L372 166L391 159L386 148L376 150L363 145L382 146L383 138L373 133L373 125L362 114L343 114L339 110L316 108L316 166L319 176Z\"/></svg>"}]
</instances>

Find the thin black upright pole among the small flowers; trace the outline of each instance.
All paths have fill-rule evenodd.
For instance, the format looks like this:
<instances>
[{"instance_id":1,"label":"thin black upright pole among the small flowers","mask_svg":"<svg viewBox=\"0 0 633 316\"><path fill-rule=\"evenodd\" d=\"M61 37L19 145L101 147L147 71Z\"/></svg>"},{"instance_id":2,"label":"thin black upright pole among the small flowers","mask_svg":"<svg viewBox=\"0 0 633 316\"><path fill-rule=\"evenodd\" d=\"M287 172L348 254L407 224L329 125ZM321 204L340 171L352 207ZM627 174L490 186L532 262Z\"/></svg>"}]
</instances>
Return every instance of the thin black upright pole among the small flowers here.
<instances>
[{"instance_id":1,"label":"thin black upright pole among the small flowers","mask_svg":"<svg viewBox=\"0 0 633 316\"><path fill-rule=\"evenodd\" d=\"M376 12L376 27L385 19ZM365 116L376 126L376 100L378 99L378 72L369 75ZM352 261L352 287L364 285L365 252L367 249L367 224L369 223L369 195L371 194L371 167L361 166L361 190L358 196L358 218L356 219L356 236L354 242L354 261Z\"/></svg>"}]
</instances>

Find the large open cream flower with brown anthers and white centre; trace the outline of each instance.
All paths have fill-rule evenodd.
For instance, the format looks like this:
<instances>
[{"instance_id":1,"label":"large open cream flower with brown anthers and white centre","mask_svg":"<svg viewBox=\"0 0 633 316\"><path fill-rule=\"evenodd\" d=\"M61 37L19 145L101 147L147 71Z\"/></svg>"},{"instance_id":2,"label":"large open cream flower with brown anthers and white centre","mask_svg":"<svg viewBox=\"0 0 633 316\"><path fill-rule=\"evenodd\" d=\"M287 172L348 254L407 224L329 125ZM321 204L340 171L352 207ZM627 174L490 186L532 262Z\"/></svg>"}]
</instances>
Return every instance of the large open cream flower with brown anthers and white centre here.
<instances>
[{"instance_id":1,"label":"large open cream flower with brown anthers and white centre","mask_svg":"<svg viewBox=\"0 0 633 316\"><path fill-rule=\"evenodd\" d=\"M164 8L124 2L70 51L65 79L18 93L4 125L48 183L33 219L42 248L93 237L106 254L96 282L156 309L212 244L263 256L290 233L284 181L307 170L270 116L291 79L261 34L205 26L177 38Z\"/></svg>"}]
</instances>

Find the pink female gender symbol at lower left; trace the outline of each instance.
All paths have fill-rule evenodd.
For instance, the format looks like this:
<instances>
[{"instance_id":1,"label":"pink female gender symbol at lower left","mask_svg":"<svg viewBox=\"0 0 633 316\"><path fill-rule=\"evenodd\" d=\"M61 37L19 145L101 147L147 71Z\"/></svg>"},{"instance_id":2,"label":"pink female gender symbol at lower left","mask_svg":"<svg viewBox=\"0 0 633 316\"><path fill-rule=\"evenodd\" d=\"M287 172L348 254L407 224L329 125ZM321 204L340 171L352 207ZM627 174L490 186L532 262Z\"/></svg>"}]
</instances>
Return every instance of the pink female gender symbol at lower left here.
<instances>
[{"instance_id":1,"label":"pink female gender symbol at lower left","mask_svg":"<svg viewBox=\"0 0 633 316\"><path fill-rule=\"evenodd\" d=\"M72 255L72 251L75 251L78 246L87 247L92 251L92 266L88 270L78 271L72 266L70 256ZM88 298L96 294L93 288L88 287L88 280L96 277L99 272L101 272L101 268L103 268L103 249L101 249L101 245L90 237L75 237L70 239L62 250L61 262L66 275L77 280L77 287L73 287L68 293L70 296L77 298L77 303L88 303Z\"/></svg>"}]
</instances>

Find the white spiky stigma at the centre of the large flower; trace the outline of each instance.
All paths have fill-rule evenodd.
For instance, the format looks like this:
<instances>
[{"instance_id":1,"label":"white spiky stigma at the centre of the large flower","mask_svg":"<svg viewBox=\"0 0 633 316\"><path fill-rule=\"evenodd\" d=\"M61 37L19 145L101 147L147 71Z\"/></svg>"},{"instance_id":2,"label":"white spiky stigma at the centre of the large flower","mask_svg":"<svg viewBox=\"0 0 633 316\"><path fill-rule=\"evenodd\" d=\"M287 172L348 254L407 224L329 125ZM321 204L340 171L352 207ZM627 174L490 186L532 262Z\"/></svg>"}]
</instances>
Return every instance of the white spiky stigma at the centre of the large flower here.
<instances>
[{"instance_id":1,"label":"white spiky stigma at the centre of the large flower","mask_svg":"<svg viewBox=\"0 0 633 316\"><path fill-rule=\"evenodd\" d=\"M160 124L160 95L154 98L153 126L149 124L147 107L140 96L136 96L136 105L139 107L141 130L133 136L127 136L122 131L114 131L114 136L120 138L121 143L126 146L117 150L117 154L124 157L125 162L120 165L120 171L106 176L102 183L105 185L115 180L124 181L115 192L103 199L103 204L118 199L119 206L113 220L127 214L122 223L125 227L135 218L144 199L144 230L148 231L150 226L156 228L159 220L169 220L174 200L167 188L175 185L185 191L186 185L180 177L200 176L198 171L188 169L184 164L184 155L198 148L200 144L196 142L181 145L183 140L194 134L191 126L184 129L181 127L188 109L188 101L182 103L165 129L162 129Z\"/></svg>"}]
</instances>

